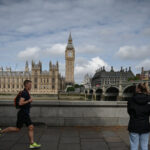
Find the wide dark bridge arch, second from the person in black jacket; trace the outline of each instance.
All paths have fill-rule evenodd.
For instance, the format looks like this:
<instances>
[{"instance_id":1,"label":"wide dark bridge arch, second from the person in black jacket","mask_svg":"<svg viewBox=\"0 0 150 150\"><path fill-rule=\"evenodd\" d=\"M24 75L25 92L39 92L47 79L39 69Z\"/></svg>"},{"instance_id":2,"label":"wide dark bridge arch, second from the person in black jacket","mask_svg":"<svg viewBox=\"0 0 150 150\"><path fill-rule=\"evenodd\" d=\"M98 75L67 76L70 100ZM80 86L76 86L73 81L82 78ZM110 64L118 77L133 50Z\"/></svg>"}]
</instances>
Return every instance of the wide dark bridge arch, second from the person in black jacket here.
<instances>
[{"instance_id":1,"label":"wide dark bridge arch, second from the person in black jacket","mask_svg":"<svg viewBox=\"0 0 150 150\"><path fill-rule=\"evenodd\" d=\"M106 89L105 100L106 101L116 101L119 95L118 87L111 86Z\"/></svg>"}]
</instances>

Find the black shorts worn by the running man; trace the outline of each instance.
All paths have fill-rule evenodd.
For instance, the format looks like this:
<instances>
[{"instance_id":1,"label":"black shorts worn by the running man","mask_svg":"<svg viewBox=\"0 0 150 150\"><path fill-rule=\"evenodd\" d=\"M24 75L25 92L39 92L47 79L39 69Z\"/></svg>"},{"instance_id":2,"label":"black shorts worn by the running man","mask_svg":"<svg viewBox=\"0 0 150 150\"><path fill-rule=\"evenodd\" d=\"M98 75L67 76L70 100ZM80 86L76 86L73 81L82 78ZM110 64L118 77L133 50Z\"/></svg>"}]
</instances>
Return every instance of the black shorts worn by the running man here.
<instances>
[{"instance_id":1,"label":"black shorts worn by the running man","mask_svg":"<svg viewBox=\"0 0 150 150\"><path fill-rule=\"evenodd\" d=\"M22 128L24 124L28 127L32 125L33 123L28 113L26 113L24 110L19 110L17 114L16 127Z\"/></svg>"}]
</instances>

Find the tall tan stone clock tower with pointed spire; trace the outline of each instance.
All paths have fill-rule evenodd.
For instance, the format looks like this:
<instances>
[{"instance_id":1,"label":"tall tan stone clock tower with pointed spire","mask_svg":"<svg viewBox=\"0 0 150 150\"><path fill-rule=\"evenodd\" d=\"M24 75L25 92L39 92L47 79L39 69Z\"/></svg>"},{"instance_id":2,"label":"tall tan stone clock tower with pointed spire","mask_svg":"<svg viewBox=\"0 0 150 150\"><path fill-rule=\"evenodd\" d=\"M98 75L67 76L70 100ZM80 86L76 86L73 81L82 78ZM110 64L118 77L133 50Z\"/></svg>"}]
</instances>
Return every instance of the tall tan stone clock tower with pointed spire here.
<instances>
[{"instance_id":1,"label":"tall tan stone clock tower with pointed spire","mask_svg":"<svg viewBox=\"0 0 150 150\"><path fill-rule=\"evenodd\" d=\"M72 44L71 33L68 38L68 44L65 51L66 60L66 84L74 84L74 61L75 61L75 49Z\"/></svg>"}]
</instances>

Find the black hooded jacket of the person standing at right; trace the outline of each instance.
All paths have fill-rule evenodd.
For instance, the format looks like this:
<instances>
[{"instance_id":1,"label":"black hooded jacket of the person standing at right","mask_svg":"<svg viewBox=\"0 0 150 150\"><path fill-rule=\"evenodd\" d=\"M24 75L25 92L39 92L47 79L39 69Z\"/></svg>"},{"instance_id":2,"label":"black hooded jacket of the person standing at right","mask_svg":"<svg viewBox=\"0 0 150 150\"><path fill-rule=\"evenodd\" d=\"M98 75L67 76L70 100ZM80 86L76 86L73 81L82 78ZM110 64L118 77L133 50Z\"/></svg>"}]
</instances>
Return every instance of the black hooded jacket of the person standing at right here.
<instances>
[{"instance_id":1,"label":"black hooded jacket of the person standing at right","mask_svg":"<svg viewBox=\"0 0 150 150\"><path fill-rule=\"evenodd\" d=\"M149 115L150 100L149 96L143 93L134 94L133 98L128 101L128 113L130 120L128 124L129 132L147 133L150 131Z\"/></svg>"}]
</instances>

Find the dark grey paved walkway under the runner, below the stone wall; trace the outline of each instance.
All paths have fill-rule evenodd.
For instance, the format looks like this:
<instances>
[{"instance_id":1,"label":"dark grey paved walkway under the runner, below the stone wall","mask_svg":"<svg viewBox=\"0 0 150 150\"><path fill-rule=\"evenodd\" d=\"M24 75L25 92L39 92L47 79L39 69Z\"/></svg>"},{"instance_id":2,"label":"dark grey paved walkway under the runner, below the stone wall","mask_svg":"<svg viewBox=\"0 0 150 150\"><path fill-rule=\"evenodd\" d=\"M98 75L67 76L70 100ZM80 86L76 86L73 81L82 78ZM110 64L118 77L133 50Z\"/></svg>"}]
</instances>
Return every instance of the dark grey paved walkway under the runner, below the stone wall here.
<instances>
[{"instance_id":1,"label":"dark grey paved walkway under the runner, below the stone wall","mask_svg":"<svg viewBox=\"0 0 150 150\"><path fill-rule=\"evenodd\" d=\"M40 150L129 150L125 127L35 127ZM0 137L0 150L27 150L27 129Z\"/></svg>"}]
</instances>

